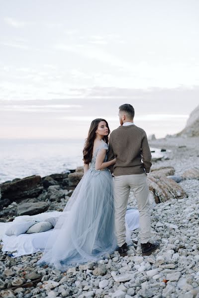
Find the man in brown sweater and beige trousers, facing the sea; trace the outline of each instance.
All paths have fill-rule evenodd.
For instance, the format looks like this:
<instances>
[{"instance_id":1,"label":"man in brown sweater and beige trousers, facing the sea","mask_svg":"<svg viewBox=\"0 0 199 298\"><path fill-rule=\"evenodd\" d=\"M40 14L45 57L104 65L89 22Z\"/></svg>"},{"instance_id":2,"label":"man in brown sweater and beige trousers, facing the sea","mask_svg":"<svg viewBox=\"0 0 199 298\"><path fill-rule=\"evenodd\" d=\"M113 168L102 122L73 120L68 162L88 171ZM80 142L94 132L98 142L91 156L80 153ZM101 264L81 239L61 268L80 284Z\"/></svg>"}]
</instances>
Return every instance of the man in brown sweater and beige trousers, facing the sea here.
<instances>
[{"instance_id":1,"label":"man in brown sweater and beige trousers, facing the sea","mask_svg":"<svg viewBox=\"0 0 199 298\"><path fill-rule=\"evenodd\" d=\"M150 255L160 243L149 242L151 214L149 205L149 187L147 175L151 168L151 151L146 133L133 123L134 108L130 104L119 107L121 126L115 129L109 138L107 160L116 157L116 162L109 167L114 174L115 232L119 254L127 255L125 213L130 189L137 199L140 214L142 255ZM141 160L142 159L142 160Z\"/></svg>"}]
</instances>

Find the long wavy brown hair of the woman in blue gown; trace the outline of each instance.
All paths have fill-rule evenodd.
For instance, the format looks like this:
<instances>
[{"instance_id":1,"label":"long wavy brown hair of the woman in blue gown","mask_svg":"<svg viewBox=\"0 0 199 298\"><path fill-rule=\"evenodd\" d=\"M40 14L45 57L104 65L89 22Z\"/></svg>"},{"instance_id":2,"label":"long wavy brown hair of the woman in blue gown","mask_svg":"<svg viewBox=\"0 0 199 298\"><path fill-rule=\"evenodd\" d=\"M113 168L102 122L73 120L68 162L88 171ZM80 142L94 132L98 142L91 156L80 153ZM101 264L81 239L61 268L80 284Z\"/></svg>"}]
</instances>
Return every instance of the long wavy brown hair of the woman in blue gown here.
<instances>
[{"instance_id":1,"label":"long wavy brown hair of the woman in blue gown","mask_svg":"<svg viewBox=\"0 0 199 298\"><path fill-rule=\"evenodd\" d=\"M108 127L108 123L106 120L97 118L92 121L90 129L89 129L88 138L86 139L85 146L83 149L83 156L84 156L83 160L84 160L84 163L86 163L86 164L89 164L93 157L94 141L96 139L96 131L98 129L98 125L99 125L100 121L104 121L107 124L108 135L110 133L110 129ZM104 136L103 140L106 144L108 144L108 136Z\"/></svg>"}]
</instances>

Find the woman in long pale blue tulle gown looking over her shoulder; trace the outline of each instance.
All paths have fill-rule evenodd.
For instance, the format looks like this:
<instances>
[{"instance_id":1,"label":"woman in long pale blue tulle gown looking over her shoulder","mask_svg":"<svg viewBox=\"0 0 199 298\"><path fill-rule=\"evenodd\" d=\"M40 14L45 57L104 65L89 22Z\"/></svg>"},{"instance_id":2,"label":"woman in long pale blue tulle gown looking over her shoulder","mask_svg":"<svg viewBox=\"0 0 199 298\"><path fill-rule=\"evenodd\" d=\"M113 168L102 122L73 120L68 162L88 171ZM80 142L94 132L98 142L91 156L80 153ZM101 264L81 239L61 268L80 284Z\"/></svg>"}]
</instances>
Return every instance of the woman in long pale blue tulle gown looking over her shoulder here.
<instances>
[{"instance_id":1,"label":"woman in long pale blue tulle gown looking over her shoulder","mask_svg":"<svg viewBox=\"0 0 199 298\"><path fill-rule=\"evenodd\" d=\"M108 123L91 123L83 150L84 176L73 192L48 239L37 264L66 271L70 266L96 261L116 247L114 232L113 181L106 161Z\"/></svg>"}]
</instances>

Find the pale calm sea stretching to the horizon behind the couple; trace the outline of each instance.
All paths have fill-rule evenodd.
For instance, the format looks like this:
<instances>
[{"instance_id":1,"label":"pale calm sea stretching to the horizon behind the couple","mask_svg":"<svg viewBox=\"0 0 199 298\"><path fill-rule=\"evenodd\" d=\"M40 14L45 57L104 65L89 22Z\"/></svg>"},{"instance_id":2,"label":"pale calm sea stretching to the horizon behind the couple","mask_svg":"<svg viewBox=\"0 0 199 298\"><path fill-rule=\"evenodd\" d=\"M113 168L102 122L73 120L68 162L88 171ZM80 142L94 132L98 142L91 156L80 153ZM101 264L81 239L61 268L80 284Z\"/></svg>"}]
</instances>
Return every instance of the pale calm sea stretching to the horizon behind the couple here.
<instances>
[{"instance_id":1,"label":"pale calm sea stretching to the horizon behind the couple","mask_svg":"<svg viewBox=\"0 0 199 298\"><path fill-rule=\"evenodd\" d=\"M0 140L0 183L67 172L83 165L85 140ZM154 150L151 148L151 150ZM159 156L159 149L152 155Z\"/></svg>"}]
</instances>

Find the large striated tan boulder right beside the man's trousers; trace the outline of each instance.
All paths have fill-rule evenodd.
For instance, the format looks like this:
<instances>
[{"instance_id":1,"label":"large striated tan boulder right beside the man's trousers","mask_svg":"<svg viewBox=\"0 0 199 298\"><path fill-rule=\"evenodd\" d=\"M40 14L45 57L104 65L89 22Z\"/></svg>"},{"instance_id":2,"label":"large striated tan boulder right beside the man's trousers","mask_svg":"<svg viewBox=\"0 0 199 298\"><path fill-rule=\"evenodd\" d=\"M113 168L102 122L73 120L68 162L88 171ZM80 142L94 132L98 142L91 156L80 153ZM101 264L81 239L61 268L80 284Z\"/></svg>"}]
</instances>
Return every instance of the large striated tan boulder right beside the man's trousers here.
<instances>
[{"instance_id":1,"label":"large striated tan boulder right beside the man's trousers","mask_svg":"<svg viewBox=\"0 0 199 298\"><path fill-rule=\"evenodd\" d=\"M150 191L155 196L155 202L161 203L170 199L187 198L184 189L174 180L167 178L166 175L152 175L148 176L148 184Z\"/></svg>"}]
</instances>

